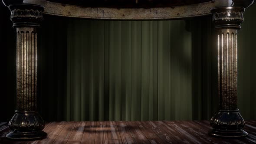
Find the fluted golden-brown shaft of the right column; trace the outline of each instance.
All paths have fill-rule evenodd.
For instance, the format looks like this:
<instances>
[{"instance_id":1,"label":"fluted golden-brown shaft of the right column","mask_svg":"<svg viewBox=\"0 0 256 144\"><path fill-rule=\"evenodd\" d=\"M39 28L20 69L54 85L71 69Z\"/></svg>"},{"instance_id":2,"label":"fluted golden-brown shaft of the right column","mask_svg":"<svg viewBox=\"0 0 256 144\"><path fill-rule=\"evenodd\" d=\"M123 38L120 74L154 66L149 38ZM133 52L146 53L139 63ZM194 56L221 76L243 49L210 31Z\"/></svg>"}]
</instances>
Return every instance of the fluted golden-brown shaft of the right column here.
<instances>
[{"instance_id":1,"label":"fluted golden-brown shaft of the right column","mask_svg":"<svg viewBox=\"0 0 256 144\"><path fill-rule=\"evenodd\" d=\"M218 29L219 109L237 109L237 29Z\"/></svg>"}]
</instances>

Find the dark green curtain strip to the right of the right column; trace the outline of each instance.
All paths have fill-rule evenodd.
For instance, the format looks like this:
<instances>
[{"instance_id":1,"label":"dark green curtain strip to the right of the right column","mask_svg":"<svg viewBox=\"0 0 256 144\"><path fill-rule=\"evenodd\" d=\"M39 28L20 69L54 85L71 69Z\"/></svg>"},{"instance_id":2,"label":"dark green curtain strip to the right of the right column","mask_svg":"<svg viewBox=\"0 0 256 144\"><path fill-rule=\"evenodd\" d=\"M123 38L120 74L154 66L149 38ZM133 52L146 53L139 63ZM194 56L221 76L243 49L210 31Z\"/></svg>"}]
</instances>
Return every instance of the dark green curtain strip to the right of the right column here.
<instances>
[{"instance_id":1,"label":"dark green curtain strip to the right of the right column","mask_svg":"<svg viewBox=\"0 0 256 144\"><path fill-rule=\"evenodd\" d=\"M238 108L245 119L256 119L256 5L246 9L238 31Z\"/></svg>"}]
</instances>

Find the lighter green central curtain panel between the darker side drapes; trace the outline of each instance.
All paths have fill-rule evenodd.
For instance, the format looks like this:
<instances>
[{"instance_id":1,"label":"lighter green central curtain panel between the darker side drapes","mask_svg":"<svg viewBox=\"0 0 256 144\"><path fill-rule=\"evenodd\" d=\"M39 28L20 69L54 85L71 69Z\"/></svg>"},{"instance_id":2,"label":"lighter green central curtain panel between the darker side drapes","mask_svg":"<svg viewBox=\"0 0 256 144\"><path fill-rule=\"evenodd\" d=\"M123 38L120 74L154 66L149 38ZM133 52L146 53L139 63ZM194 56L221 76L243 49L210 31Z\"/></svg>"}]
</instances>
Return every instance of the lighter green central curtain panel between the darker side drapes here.
<instances>
[{"instance_id":1,"label":"lighter green central curtain panel between the darker side drapes","mask_svg":"<svg viewBox=\"0 0 256 144\"><path fill-rule=\"evenodd\" d=\"M67 27L68 121L191 120L184 20L74 19Z\"/></svg>"}]
</instances>

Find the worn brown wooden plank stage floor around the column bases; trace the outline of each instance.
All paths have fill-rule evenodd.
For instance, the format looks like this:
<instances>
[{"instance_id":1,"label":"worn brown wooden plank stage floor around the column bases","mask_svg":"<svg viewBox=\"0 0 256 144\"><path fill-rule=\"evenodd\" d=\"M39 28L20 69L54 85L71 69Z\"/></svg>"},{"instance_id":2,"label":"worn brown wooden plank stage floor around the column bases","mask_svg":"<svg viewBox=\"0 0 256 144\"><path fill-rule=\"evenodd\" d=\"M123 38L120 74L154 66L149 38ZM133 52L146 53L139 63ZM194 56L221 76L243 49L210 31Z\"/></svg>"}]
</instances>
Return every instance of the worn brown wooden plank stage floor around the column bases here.
<instances>
[{"instance_id":1,"label":"worn brown wooden plank stage floor around the column bases","mask_svg":"<svg viewBox=\"0 0 256 144\"><path fill-rule=\"evenodd\" d=\"M256 144L256 121L246 121L242 139L210 137L208 121L49 122L48 136L38 141L12 141L7 122L0 123L0 144Z\"/></svg>"}]
</instances>

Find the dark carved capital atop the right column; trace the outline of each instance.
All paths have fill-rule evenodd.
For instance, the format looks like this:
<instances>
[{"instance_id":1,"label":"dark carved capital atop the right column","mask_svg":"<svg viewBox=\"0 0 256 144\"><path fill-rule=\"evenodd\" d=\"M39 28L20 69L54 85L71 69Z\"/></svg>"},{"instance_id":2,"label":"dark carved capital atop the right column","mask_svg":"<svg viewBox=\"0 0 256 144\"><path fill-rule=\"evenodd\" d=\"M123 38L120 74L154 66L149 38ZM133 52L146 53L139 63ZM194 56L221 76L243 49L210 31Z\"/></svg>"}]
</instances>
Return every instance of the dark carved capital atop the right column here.
<instances>
[{"instance_id":1,"label":"dark carved capital atop the right column","mask_svg":"<svg viewBox=\"0 0 256 144\"><path fill-rule=\"evenodd\" d=\"M211 9L216 28L241 29L243 7L216 7Z\"/></svg>"}]
</instances>

